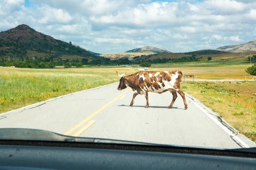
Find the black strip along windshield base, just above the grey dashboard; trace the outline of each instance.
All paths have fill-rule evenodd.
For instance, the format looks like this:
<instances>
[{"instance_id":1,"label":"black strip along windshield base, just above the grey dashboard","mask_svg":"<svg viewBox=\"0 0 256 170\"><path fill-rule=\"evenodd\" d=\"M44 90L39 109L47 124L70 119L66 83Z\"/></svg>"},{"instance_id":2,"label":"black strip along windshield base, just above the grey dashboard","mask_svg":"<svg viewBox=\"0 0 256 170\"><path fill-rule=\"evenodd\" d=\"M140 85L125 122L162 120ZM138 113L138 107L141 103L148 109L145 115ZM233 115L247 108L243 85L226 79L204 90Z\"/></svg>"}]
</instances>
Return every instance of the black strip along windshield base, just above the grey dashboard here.
<instances>
[{"instance_id":1,"label":"black strip along windshield base, just above the grey dashboard","mask_svg":"<svg viewBox=\"0 0 256 170\"><path fill-rule=\"evenodd\" d=\"M25 141L25 140L0 140L1 145L23 145L34 147L63 147L63 148L89 148L106 150L125 150L142 152L162 153L184 153L199 155L216 155L231 157L256 158L256 153L239 150L219 150L192 147L161 146L161 145L140 145L140 144L117 144L117 143L95 143L95 142L62 142L62 141Z\"/></svg>"}]
</instances>

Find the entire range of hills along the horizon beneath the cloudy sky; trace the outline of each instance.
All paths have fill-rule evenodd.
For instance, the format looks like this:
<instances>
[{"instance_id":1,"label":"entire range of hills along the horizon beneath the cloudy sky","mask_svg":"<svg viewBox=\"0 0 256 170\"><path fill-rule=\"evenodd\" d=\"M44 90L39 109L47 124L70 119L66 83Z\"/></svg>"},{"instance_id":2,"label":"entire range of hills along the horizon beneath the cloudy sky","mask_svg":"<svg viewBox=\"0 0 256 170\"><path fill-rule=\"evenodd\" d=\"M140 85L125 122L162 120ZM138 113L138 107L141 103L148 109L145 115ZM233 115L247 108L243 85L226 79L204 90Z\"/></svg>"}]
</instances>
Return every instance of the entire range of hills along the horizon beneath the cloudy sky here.
<instances>
[{"instance_id":1,"label":"entire range of hills along the horizon beneath the cloudy sky","mask_svg":"<svg viewBox=\"0 0 256 170\"><path fill-rule=\"evenodd\" d=\"M64 42L35 31L27 25L0 32L0 62L35 61L38 62L82 62L82 64L129 64L130 61L176 59L200 55L214 55L227 52L256 51L256 40L243 44L228 45L216 50L201 50L188 53L172 53L169 50L143 46L125 53L102 54L87 51L72 42ZM191 59L191 58L189 58ZM169 60L168 60L169 61ZM178 61L178 60L177 60Z\"/></svg>"}]
</instances>

